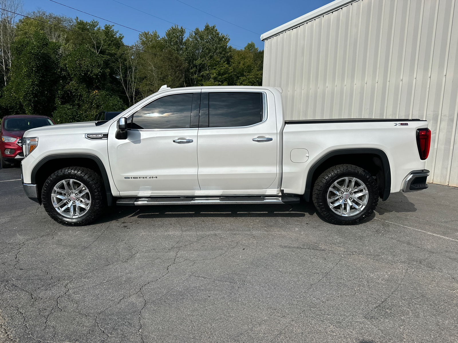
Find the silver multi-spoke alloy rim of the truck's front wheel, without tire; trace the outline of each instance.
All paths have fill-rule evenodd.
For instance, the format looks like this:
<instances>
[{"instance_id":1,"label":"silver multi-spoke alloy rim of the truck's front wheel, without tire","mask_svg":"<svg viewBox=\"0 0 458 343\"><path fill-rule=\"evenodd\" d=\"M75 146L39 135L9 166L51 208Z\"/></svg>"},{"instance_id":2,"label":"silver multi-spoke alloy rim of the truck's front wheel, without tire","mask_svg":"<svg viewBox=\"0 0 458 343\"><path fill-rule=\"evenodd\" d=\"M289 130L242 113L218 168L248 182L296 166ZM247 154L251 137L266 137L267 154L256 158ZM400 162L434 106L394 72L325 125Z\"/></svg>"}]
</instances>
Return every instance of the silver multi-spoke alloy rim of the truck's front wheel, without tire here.
<instances>
[{"instance_id":1,"label":"silver multi-spoke alloy rim of the truck's front wheel, without tire","mask_svg":"<svg viewBox=\"0 0 458 343\"><path fill-rule=\"evenodd\" d=\"M75 179L57 182L51 193L55 210L66 218L79 218L91 208L91 194L87 187Z\"/></svg>"}]
</instances>

